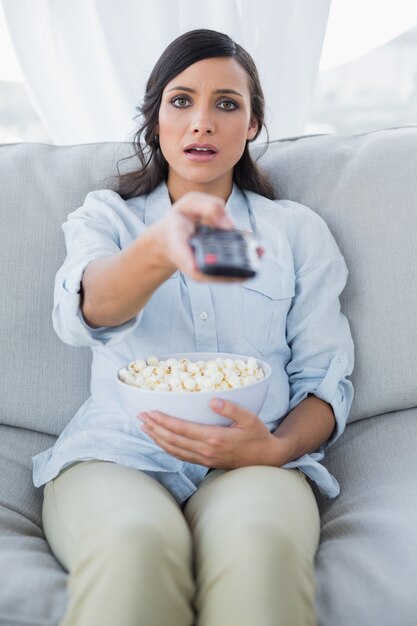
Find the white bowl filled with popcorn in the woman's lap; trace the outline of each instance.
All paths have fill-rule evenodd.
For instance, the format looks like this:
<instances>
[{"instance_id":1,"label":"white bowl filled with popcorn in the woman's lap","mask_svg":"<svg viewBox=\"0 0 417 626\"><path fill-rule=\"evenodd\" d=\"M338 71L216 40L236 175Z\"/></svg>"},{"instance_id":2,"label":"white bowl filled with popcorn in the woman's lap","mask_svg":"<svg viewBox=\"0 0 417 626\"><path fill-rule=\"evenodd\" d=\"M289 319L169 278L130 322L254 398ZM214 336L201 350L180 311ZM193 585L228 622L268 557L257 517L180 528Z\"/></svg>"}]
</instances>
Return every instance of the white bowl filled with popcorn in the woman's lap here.
<instances>
[{"instance_id":1,"label":"white bowl filled with popcorn in the woman's lap","mask_svg":"<svg viewBox=\"0 0 417 626\"><path fill-rule=\"evenodd\" d=\"M253 413L261 410L271 367L252 356L189 352L139 358L118 372L117 390L126 413L138 426L142 411L161 411L199 424L228 426L213 411L212 398L229 400Z\"/></svg>"}]
</instances>

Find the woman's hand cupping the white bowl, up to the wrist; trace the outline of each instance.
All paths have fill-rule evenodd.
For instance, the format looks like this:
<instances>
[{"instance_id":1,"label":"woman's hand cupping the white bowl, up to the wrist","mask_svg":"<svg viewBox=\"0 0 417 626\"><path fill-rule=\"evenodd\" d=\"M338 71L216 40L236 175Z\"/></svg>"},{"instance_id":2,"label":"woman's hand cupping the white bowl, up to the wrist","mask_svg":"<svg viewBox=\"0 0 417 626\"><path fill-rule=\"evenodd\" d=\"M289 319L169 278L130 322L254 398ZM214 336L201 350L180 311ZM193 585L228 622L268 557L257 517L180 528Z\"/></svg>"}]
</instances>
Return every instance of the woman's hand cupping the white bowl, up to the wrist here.
<instances>
[{"instance_id":1,"label":"woman's hand cupping the white bowl, up to the wrist","mask_svg":"<svg viewBox=\"0 0 417 626\"><path fill-rule=\"evenodd\" d=\"M237 404L221 400L223 407L211 408L233 420L228 426L206 426L187 422L160 411L139 413L146 432L172 456L206 467L234 469L246 465L280 466L280 441L262 420Z\"/></svg>"}]
</instances>

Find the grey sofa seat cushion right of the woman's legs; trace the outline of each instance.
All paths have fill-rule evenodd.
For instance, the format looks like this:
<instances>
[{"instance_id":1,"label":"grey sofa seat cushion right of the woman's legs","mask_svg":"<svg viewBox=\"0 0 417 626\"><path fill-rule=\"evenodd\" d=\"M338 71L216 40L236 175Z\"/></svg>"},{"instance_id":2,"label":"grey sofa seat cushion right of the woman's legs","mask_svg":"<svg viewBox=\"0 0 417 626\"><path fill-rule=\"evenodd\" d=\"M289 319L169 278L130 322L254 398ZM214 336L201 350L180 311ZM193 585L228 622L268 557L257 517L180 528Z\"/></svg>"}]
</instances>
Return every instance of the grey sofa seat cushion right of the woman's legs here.
<instances>
[{"instance_id":1,"label":"grey sofa seat cushion right of the woman's legs","mask_svg":"<svg viewBox=\"0 0 417 626\"><path fill-rule=\"evenodd\" d=\"M348 424L323 464L341 493L324 498L316 556L320 626L417 623L417 409Z\"/></svg>"}]
</instances>

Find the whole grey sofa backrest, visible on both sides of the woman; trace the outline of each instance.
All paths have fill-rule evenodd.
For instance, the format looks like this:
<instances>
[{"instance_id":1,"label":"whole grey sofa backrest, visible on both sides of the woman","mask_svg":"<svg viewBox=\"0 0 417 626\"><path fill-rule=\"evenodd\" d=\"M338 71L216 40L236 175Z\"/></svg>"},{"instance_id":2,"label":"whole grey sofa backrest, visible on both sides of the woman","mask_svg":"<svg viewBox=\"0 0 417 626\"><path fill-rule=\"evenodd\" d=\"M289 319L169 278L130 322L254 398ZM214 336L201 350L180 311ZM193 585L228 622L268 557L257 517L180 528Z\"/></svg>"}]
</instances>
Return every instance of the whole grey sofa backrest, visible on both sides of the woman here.
<instances>
[{"instance_id":1,"label":"whole grey sofa backrest, visible on both sides of the woman","mask_svg":"<svg viewBox=\"0 0 417 626\"><path fill-rule=\"evenodd\" d=\"M0 146L0 423L58 435L89 393L90 349L52 328L61 225L128 154L128 143ZM417 126L274 141L258 163L278 199L325 219L350 270L350 421L416 406Z\"/></svg>"}]
</instances>

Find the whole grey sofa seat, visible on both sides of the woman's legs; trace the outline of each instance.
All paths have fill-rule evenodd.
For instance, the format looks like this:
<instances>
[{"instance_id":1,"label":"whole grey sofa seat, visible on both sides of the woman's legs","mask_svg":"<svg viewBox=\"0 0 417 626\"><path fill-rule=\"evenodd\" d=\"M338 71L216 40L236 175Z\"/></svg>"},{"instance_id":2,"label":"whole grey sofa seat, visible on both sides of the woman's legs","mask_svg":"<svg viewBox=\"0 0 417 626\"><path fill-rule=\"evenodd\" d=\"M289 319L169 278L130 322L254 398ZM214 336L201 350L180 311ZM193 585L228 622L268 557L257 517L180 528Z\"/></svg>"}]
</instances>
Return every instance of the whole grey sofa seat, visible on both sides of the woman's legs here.
<instances>
[{"instance_id":1,"label":"whole grey sofa seat, visible on both sides of the woman's legs","mask_svg":"<svg viewBox=\"0 0 417 626\"><path fill-rule=\"evenodd\" d=\"M4 626L56 626L67 603L66 573L42 532L42 489L31 480L31 455L53 439L0 427ZM329 448L323 463L339 481L341 494L329 500L315 490L322 518L316 557L320 626L414 626L416 446L417 410L412 409L348 424Z\"/></svg>"}]
</instances>

